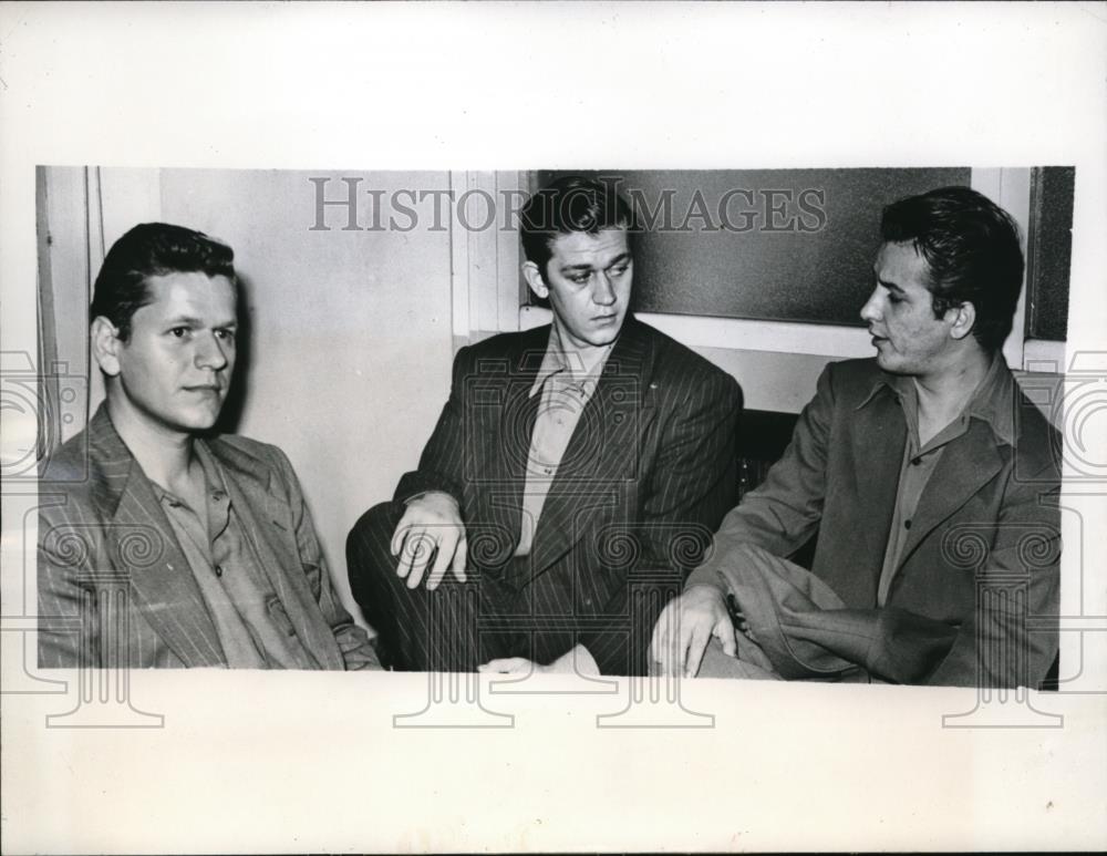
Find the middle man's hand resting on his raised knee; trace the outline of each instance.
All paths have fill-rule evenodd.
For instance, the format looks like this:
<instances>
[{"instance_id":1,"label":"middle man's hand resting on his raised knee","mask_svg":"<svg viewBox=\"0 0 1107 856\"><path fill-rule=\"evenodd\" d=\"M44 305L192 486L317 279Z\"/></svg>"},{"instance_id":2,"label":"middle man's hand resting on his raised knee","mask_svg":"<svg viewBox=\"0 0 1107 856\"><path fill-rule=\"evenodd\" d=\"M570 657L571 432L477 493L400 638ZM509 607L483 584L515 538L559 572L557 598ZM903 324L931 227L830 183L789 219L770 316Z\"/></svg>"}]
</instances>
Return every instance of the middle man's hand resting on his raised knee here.
<instances>
[{"instance_id":1,"label":"middle man's hand resting on his raised knee","mask_svg":"<svg viewBox=\"0 0 1107 856\"><path fill-rule=\"evenodd\" d=\"M392 535L392 555L400 557L396 576L406 578L407 588L416 588L426 575L426 588L434 591L446 570L464 582L466 550L465 524L457 501L441 491L407 503Z\"/></svg>"}]
</instances>

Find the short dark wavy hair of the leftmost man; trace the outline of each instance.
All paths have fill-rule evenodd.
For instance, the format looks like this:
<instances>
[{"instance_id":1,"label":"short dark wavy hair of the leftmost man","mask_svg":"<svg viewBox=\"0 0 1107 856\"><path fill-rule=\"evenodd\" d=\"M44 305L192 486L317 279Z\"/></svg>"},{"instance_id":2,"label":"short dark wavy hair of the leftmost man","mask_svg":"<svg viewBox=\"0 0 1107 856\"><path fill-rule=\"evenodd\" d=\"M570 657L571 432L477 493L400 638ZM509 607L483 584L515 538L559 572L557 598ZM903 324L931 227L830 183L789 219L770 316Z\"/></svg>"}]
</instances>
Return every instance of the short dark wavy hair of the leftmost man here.
<instances>
[{"instance_id":1,"label":"short dark wavy hair of the leftmost man","mask_svg":"<svg viewBox=\"0 0 1107 856\"><path fill-rule=\"evenodd\" d=\"M147 279L166 274L206 274L235 279L235 251L201 231L168 223L143 223L120 238L104 257L93 287L90 320L103 316L131 338L131 319L151 302Z\"/></svg>"}]
</instances>

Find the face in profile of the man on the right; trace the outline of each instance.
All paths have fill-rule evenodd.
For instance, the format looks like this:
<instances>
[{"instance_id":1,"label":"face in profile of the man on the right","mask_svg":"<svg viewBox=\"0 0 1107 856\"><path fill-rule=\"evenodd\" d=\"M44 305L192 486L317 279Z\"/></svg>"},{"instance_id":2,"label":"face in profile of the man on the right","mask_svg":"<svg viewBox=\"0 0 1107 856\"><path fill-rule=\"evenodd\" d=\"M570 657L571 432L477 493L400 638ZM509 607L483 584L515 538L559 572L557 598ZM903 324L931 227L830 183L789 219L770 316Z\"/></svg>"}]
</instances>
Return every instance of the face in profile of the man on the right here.
<instances>
[{"instance_id":1,"label":"face in profile of the man on the right","mask_svg":"<svg viewBox=\"0 0 1107 856\"><path fill-rule=\"evenodd\" d=\"M863 307L877 362L894 374L928 375L950 362L955 310L934 318L927 260L910 244L884 244L872 266L877 287Z\"/></svg>"}]
</instances>

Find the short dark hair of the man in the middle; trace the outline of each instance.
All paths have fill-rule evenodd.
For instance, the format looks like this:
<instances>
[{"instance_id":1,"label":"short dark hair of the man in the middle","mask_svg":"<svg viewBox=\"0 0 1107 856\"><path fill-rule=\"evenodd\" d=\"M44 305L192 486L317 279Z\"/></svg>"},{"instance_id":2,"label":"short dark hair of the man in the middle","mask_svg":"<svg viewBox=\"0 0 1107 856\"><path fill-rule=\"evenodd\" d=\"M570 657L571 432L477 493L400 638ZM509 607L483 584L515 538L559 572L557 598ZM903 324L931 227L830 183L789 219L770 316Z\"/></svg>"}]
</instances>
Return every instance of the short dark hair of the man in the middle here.
<instances>
[{"instance_id":1,"label":"short dark hair of the man in the middle","mask_svg":"<svg viewBox=\"0 0 1107 856\"><path fill-rule=\"evenodd\" d=\"M555 179L538 190L519 212L523 251L545 275L554 252L554 241L561 235L602 229L634 230L634 212L615 190L579 175Z\"/></svg>"}]
</instances>

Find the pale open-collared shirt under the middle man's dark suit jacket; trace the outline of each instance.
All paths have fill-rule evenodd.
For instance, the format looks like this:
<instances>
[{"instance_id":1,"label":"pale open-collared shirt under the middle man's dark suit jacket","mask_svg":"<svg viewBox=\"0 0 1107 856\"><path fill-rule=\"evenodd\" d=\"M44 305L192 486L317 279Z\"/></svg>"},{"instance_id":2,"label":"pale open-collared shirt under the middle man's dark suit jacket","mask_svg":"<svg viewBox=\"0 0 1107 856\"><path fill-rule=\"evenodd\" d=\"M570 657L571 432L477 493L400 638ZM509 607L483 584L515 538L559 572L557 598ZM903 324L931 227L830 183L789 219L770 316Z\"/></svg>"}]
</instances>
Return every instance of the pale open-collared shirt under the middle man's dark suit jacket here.
<instances>
[{"instance_id":1,"label":"pale open-collared shirt under the middle man's dark suit jacket","mask_svg":"<svg viewBox=\"0 0 1107 856\"><path fill-rule=\"evenodd\" d=\"M523 523L516 556L530 554L550 485L557 477L580 414L596 394L596 386L612 347L613 344L609 344L581 353L563 347L557 324L550 328L542 364L530 388L530 398L539 392L542 398L530 434L527 477L523 487Z\"/></svg>"}]
</instances>

